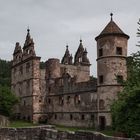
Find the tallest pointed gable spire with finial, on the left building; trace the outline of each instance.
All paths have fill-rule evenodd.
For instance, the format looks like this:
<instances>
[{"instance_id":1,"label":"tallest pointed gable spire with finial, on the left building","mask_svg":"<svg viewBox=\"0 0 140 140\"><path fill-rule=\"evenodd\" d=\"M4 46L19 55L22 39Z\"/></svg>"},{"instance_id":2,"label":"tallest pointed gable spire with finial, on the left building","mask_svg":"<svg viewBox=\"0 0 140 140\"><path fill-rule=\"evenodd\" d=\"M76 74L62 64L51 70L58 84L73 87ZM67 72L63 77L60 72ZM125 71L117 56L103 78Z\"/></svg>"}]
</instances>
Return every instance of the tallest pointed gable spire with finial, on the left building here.
<instances>
[{"instance_id":1,"label":"tallest pointed gable spire with finial, on the left building","mask_svg":"<svg viewBox=\"0 0 140 140\"><path fill-rule=\"evenodd\" d=\"M31 35L30 35L30 29L28 28L23 49L30 46L31 44L34 44L34 42L33 42L33 39L31 38Z\"/></svg>"}]
</instances>

